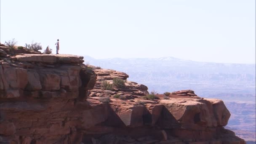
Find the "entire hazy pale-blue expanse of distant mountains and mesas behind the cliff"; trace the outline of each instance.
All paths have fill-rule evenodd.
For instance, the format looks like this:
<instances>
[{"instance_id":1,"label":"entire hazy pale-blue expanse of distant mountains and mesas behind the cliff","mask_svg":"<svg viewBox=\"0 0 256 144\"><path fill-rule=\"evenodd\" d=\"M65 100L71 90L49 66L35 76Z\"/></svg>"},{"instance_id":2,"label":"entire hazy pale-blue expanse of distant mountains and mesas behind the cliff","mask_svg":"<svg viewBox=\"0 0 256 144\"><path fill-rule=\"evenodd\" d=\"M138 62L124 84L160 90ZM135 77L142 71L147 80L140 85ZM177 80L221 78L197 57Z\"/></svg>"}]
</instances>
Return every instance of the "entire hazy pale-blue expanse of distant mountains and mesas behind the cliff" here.
<instances>
[{"instance_id":1,"label":"entire hazy pale-blue expanse of distant mountains and mesas behind the cliff","mask_svg":"<svg viewBox=\"0 0 256 144\"><path fill-rule=\"evenodd\" d=\"M211 97L218 93L255 96L256 64L197 62L173 57L153 59L84 57L85 63L127 73L128 80L147 85L149 91L162 93L193 89L203 96Z\"/></svg>"}]
</instances>

